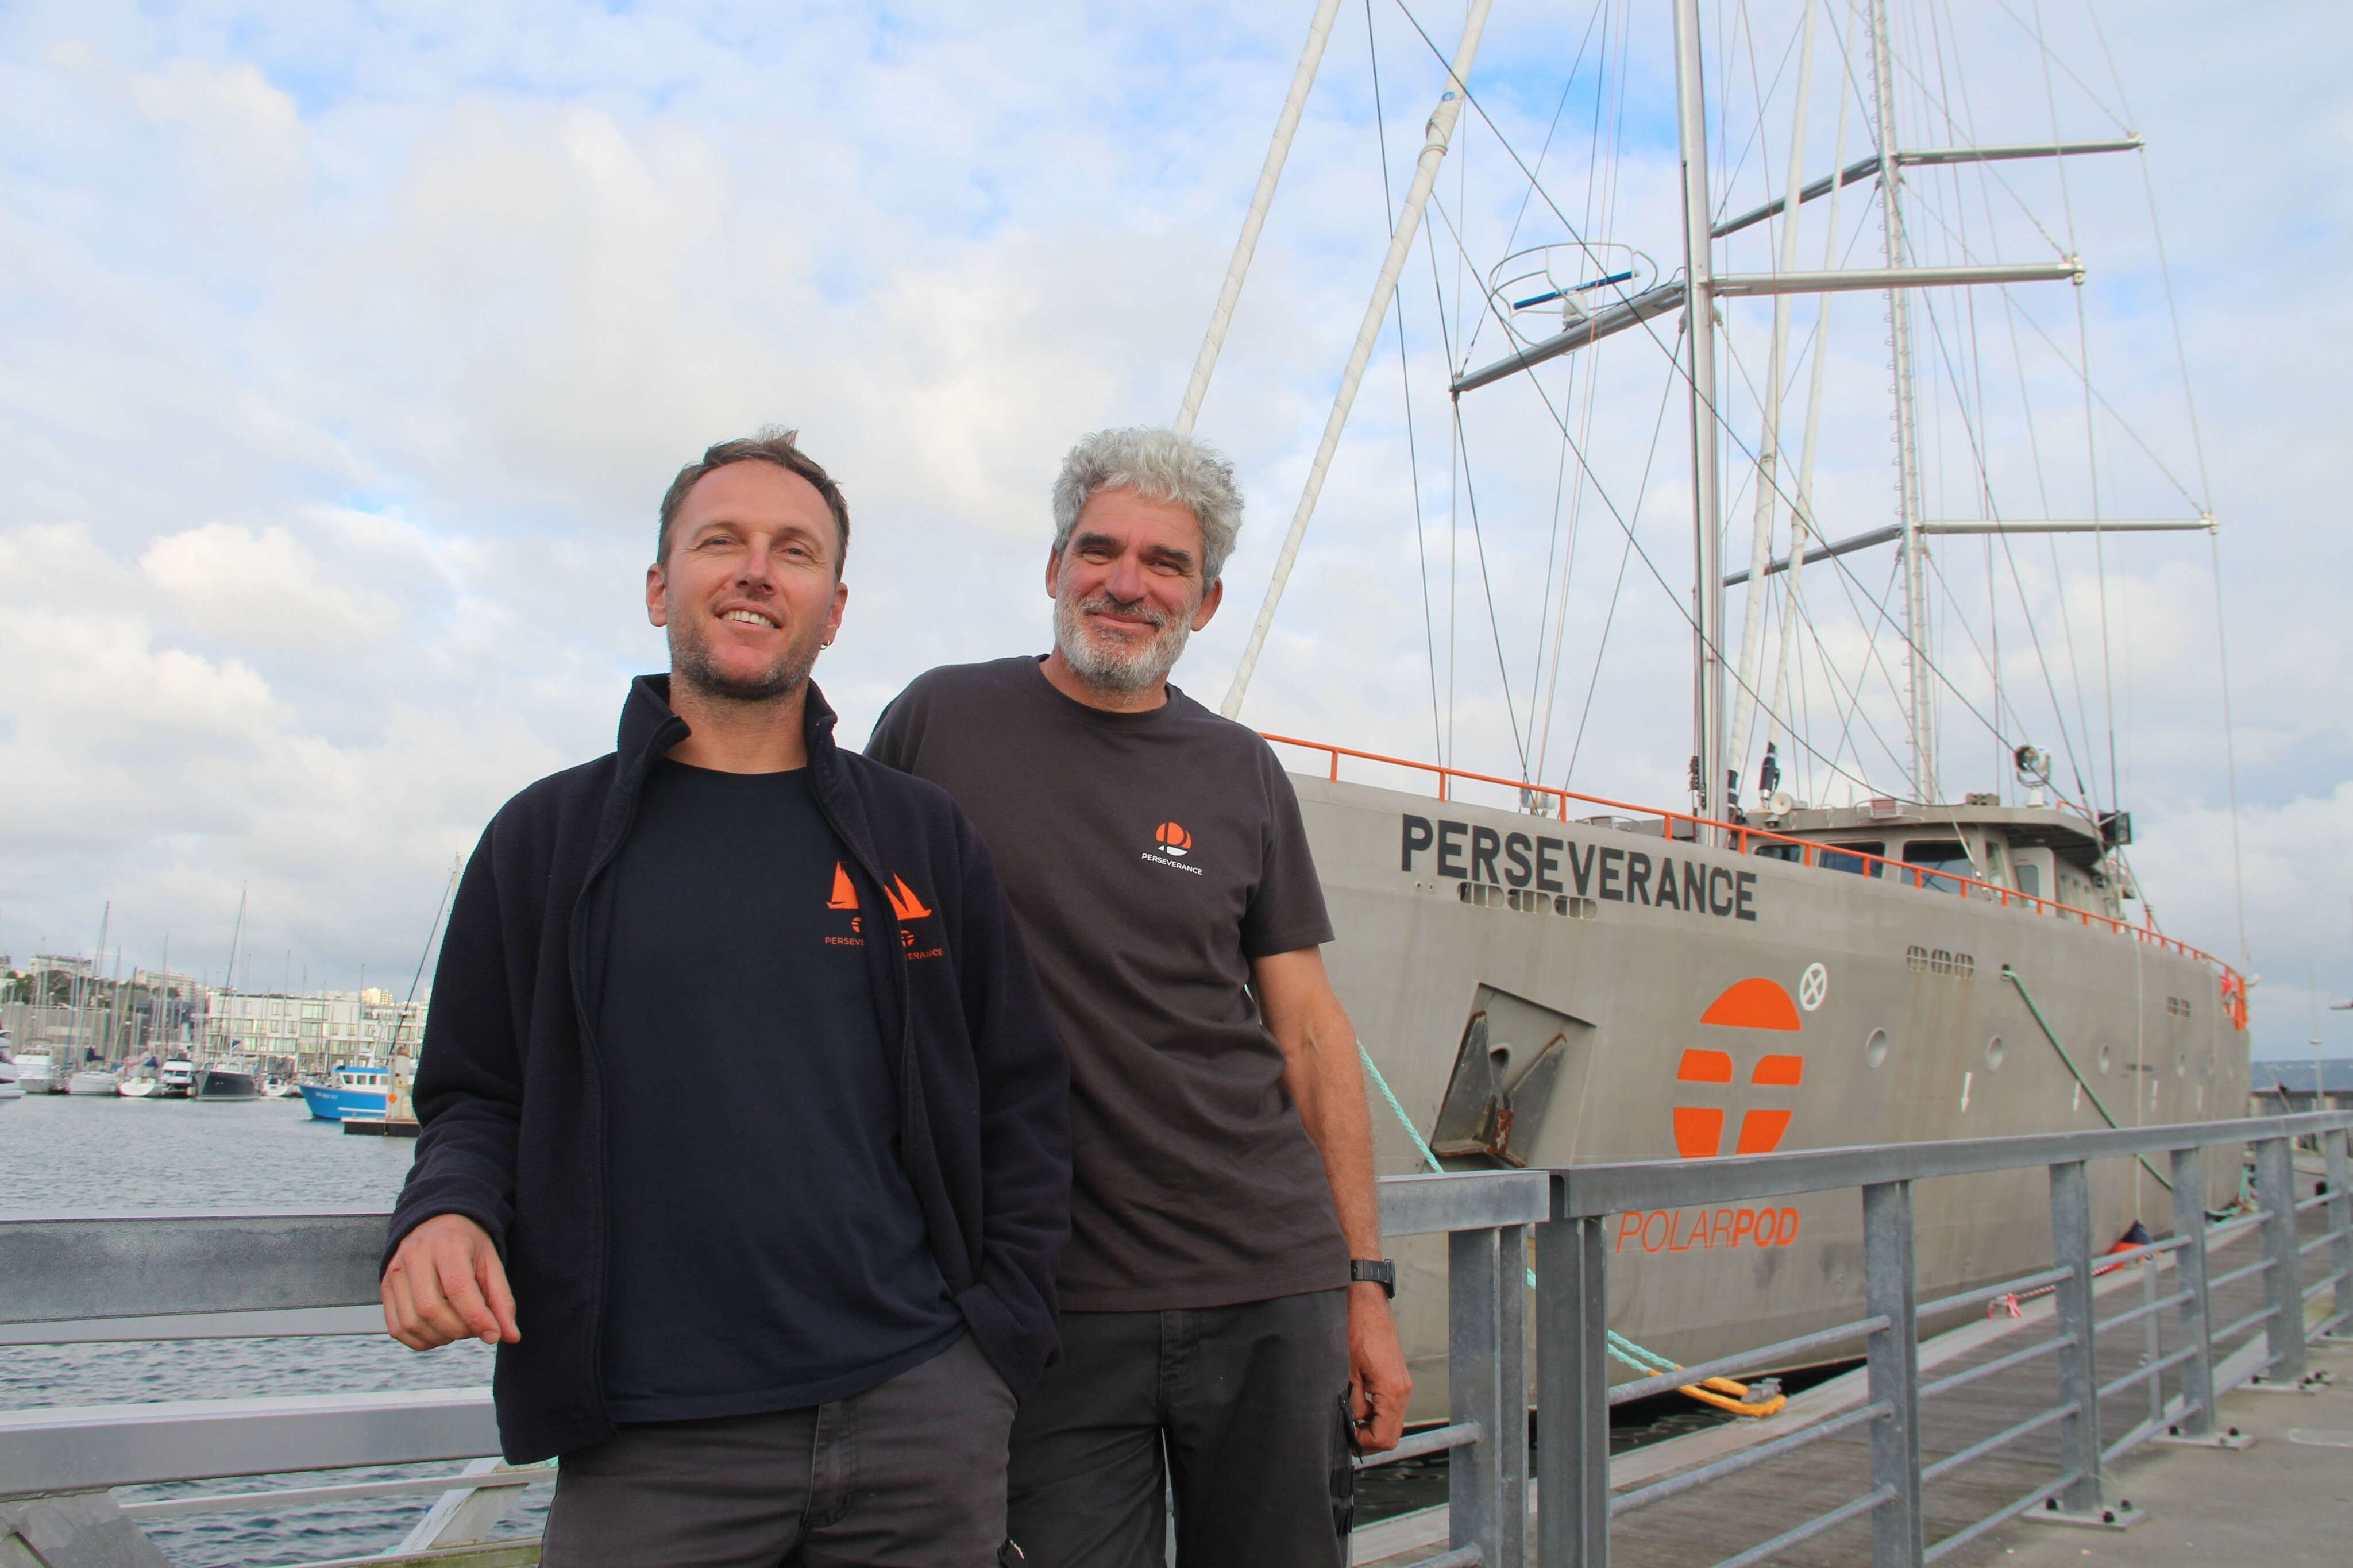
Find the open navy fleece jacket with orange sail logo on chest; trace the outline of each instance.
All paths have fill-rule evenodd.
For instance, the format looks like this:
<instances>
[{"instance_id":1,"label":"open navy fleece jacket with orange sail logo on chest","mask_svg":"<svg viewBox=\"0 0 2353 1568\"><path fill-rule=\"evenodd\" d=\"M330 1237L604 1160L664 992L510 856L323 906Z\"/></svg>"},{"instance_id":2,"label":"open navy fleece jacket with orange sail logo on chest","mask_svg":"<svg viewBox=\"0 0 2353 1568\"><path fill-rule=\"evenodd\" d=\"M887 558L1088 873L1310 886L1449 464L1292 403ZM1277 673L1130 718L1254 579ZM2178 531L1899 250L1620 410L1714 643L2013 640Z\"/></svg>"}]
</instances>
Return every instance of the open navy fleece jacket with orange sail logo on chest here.
<instances>
[{"instance_id":1,"label":"open navy fleece jacket with orange sail logo on chest","mask_svg":"<svg viewBox=\"0 0 2353 1568\"><path fill-rule=\"evenodd\" d=\"M687 738L661 675L633 682L619 748L541 778L492 818L449 910L416 1067L416 1164L393 1248L459 1213L496 1241L518 1345L494 1394L511 1462L612 1432L600 1387L605 1110L595 1039L605 877L647 771ZM1068 1232L1066 1067L988 851L939 788L833 743L809 686L809 792L849 853L859 905L892 910L882 870L929 905L866 943L875 1025L894 1041L899 1147L932 1255L972 1338L1024 1394L1056 1345L1054 1260ZM911 964L904 947L944 945ZM626 1173L614 1173L626 1180ZM786 1194L776 1194L786 1201Z\"/></svg>"}]
</instances>

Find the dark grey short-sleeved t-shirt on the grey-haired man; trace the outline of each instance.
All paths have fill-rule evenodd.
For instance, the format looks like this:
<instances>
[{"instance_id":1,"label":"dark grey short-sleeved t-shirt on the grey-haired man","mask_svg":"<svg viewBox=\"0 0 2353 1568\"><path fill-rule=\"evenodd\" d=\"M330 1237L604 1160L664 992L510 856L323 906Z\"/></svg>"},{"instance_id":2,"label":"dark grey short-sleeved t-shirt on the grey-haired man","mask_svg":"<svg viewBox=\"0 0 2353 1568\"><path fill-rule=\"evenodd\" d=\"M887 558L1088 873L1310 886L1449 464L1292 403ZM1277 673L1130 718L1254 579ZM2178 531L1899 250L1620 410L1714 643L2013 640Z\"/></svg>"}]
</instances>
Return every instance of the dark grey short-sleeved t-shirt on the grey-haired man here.
<instances>
[{"instance_id":1,"label":"dark grey short-sleeved t-shirt on the grey-haired man","mask_svg":"<svg viewBox=\"0 0 2353 1568\"><path fill-rule=\"evenodd\" d=\"M1332 940L1273 750L1169 686L1101 712L1035 658L946 665L866 755L988 839L1071 1056L1068 1312L1160 1312L1348 1284L1322 1157L1247 990Z\"/></svg>"}]
</instances>

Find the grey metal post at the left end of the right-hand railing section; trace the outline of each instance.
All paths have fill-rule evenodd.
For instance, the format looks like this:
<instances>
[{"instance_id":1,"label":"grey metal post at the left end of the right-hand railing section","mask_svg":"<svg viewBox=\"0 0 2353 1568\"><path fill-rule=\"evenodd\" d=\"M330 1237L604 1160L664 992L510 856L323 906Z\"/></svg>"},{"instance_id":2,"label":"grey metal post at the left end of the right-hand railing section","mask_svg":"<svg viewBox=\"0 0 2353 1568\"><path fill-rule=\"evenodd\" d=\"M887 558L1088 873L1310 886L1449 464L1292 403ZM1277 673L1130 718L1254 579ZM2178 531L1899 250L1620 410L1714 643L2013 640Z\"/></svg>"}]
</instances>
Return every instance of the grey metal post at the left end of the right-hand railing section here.
<instances>
[{"instance_id":1,"label":"grey metal post at the left end of the right-hand railing section","mask_svg":"<svg viewBox=\"0 0 2353 1568\"><path fill-rule=\"evenodd\" d=\"M1560 1182L1553 1182L1560 1206ZM1609 1568L1609 1253L1600 1218L1537 1227L1537 1563Z\"/></svg>"}]
</instances>

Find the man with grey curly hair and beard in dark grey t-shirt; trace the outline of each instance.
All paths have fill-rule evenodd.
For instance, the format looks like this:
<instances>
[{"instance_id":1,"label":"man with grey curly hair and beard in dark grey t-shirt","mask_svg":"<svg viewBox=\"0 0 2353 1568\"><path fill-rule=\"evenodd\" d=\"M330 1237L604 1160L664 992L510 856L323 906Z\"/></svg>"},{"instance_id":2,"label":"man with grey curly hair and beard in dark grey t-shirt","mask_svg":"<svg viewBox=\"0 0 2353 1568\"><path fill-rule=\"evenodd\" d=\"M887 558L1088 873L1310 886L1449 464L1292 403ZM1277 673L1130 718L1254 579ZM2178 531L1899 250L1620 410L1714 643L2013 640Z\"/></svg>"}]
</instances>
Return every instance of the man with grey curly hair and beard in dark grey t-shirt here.
<instances>
[{"instance_id":1,"label":"man with grey curly hair and beard in dark grey t-shirt","mask_svg":"<svg viewBox=\"0 0 2353 1568\"><path fill-rule=\"evenodd\" d=\"M988 839L1071 1056L1061 1354L1014 1420L1033 1568L1346 1561L1355 1450L1398 1443L1372 1119L1299 802L1169 684L1224 597L1233 465L1096 430L1054 482L1054 649L908 684L866 752Z\"/></svg>"}]
</instances>

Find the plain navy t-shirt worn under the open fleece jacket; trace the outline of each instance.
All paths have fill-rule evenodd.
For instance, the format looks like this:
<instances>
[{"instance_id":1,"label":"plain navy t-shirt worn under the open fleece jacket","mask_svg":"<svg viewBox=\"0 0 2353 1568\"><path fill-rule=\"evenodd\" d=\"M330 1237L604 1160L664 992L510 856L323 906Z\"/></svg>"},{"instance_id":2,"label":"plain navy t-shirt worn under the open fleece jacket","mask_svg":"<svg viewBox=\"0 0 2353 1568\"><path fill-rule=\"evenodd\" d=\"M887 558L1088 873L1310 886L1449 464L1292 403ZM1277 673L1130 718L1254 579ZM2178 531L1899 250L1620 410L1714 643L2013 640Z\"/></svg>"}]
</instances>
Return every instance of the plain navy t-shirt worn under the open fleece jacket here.
<instances>
[{"instance_id":1,"label":"plain navy t-shirt worn under the open fleece jacket","mask_svg":"<svg viewBox=\"0 0 2353 1568\"><path fill-rule=\"evenodd\" d=\"M805 771L645 780L591 1001L614 1420L847 1399L962 1333L866 959L826 910L840 865Z\"/></svg>"}]
</instances>

